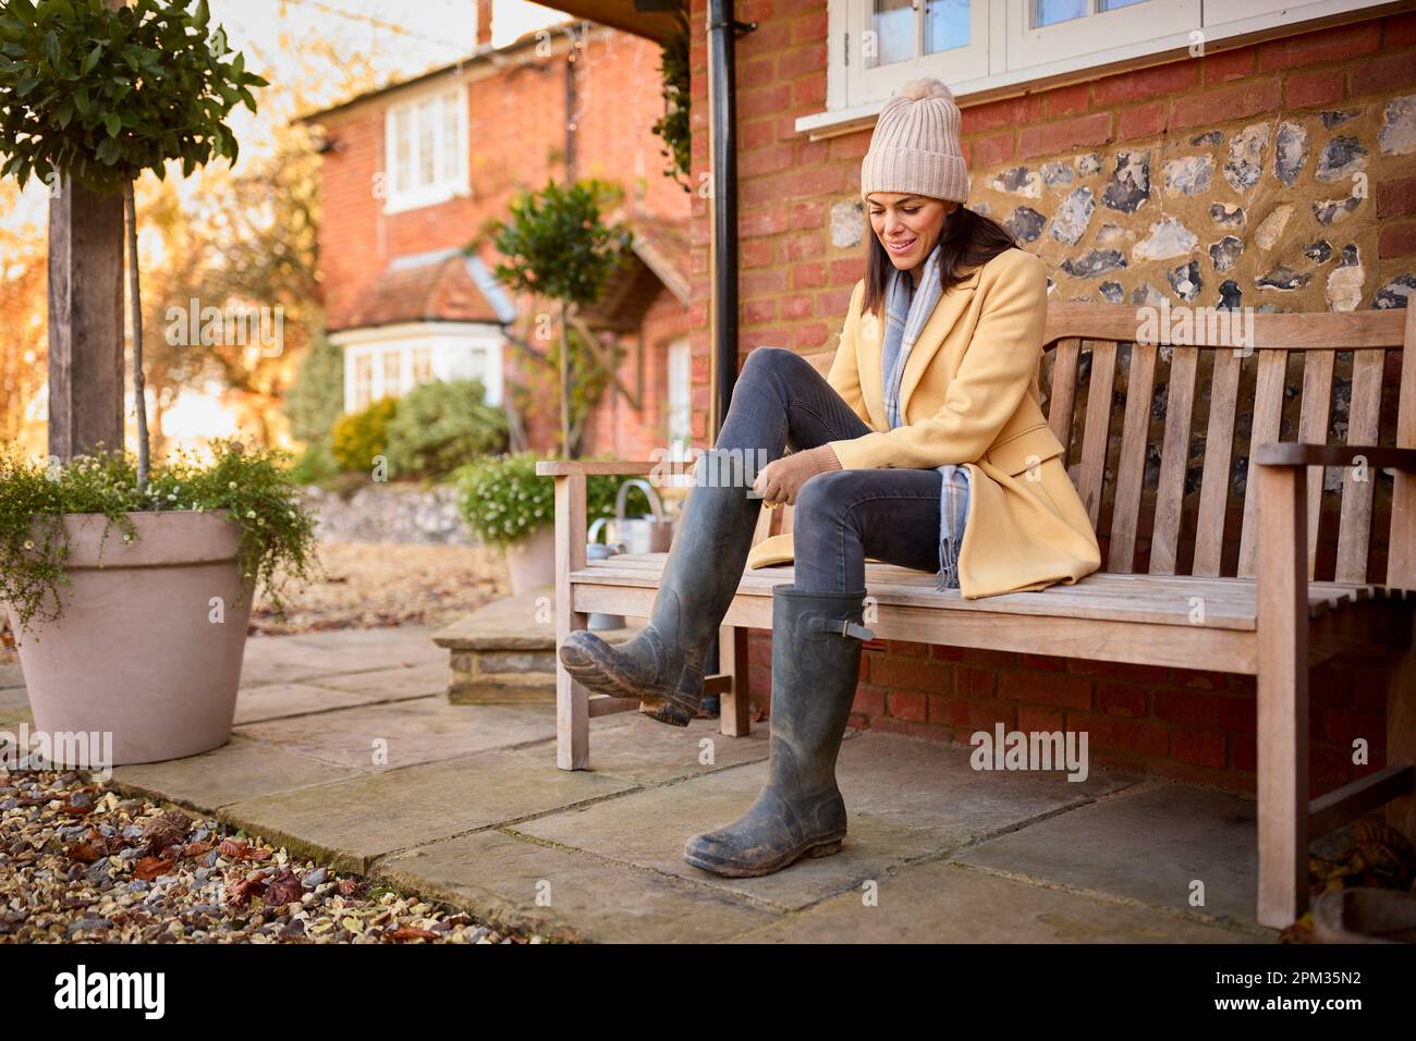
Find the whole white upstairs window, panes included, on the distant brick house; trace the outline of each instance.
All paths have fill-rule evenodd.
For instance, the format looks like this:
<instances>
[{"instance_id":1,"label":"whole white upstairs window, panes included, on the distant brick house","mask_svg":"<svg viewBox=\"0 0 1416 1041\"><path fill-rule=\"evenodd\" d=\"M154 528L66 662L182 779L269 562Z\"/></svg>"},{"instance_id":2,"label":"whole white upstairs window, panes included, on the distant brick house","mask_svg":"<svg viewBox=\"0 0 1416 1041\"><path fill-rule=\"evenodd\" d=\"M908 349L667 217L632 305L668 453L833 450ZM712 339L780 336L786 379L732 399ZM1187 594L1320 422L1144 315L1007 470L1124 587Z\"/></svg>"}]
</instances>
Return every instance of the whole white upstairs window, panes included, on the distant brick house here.
<instances>
[{"instance_id":1,"label":"whole white upstairs window, panes included, on the distant brick house","mask_svg":"<svg viewBox=\"0 0 1416 1041\"><path fill-rule=\"evenodd\" d=\"M467 89L463 85L394 105L384 129L385 212L467 194Z\"/></svg>"}]
</instances>

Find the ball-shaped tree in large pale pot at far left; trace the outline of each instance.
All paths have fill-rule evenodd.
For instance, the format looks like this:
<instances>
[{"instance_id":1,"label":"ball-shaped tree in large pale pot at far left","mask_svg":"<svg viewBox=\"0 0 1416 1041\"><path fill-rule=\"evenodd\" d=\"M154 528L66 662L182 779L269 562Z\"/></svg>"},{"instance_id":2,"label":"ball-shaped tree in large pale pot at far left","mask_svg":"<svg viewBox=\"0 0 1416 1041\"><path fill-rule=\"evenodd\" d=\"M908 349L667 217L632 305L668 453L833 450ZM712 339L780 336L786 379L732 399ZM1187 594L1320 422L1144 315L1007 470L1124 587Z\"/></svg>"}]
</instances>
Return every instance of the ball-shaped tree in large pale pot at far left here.
<instances>
[{"instance_id":1,"label":"ball-shaped tree in large pale pot at far left","mask_svg":"<svg viewBox=\"0 0 1416 1041\"><path fill-rule=\"evenodd\" d=\"M236 157L225 119L265 81L205 0L10 0L0 11L0 176L122 193L136 459L0 459L0 601L51 734L110 734L115 763L170 759L231 732L246 619L265 582L304 576L313 521L283 453L222 442L154 470L143 395L133 181ZM116 538L113 537L116 533Z\"/></svg>"}]
</instances>

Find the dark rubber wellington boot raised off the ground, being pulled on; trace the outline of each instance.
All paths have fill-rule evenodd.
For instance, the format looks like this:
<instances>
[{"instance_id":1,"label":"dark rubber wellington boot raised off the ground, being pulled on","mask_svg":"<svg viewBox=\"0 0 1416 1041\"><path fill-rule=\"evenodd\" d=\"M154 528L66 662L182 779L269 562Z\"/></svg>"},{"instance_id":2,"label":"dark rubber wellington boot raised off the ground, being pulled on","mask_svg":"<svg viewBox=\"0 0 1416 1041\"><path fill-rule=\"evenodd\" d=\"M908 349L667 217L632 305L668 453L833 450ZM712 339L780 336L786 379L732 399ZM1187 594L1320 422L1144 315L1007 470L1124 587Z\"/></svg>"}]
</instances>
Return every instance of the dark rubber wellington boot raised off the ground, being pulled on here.
<instances>
[{"instance_id":1,"label":"dark rubber wellington boot raised off the ground, being pulled on","mask_svg":"<svg viewBox=\"0 0 1416 1041\"><path fill-rule=\"evenodd\" d=\"M588 629L561 644L561 663L598 694L636 697L639 711L687 727L704 694L704 657L742 581L762 499L738 452L709 449L684 504L649 623L609 644Z\"/></svg>"}]
</instances>

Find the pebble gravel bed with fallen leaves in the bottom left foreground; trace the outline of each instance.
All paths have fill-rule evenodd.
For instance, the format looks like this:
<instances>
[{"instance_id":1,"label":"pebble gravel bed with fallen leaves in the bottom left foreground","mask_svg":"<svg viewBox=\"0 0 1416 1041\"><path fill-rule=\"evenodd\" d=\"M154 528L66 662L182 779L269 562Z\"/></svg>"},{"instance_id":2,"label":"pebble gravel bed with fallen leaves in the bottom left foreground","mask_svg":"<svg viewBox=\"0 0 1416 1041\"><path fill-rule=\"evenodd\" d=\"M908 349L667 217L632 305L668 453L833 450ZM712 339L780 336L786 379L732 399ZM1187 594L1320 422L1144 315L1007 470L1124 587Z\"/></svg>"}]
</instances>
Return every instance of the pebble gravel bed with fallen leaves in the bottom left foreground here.
<instances>
[{"instance_id":1,"label":"pebble gravel bed with fallen leaves in the bottom left foreground","mask_svg":"<svg viewBox=\"0 0 1416 1041\"><path fill-rule=\"evenodd\" d=\"M541 943L84 772L0 770L4 943Z\"/></svg>"}]
</instances>

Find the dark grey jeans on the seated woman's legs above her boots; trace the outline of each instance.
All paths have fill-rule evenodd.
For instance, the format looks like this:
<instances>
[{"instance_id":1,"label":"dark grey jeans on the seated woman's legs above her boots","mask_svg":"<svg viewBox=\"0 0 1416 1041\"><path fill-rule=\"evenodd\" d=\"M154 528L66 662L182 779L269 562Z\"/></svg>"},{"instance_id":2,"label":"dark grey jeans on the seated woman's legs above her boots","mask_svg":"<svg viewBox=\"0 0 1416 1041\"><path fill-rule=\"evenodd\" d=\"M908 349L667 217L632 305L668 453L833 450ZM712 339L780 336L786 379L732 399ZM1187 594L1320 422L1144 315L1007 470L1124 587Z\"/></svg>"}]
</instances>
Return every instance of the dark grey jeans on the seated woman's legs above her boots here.
<instances>
[{"instance_id":1,"label":"dark grey jeans on the seated woman's legs above her boots","mask_svg":"<svg viewBox=\"0 0 1416 1041\"><path fill-rule=\"evenodd\" d=\"M758 347L738 375L714 448L772 460L793 450L869 433L810 361ZM760 449L760 453L759 453ZM862 592L865 558L939 571L939 499L933 469L831 470L801 486L793 513L794 581L807 592Z\"/></svg>"}]
</instances>

